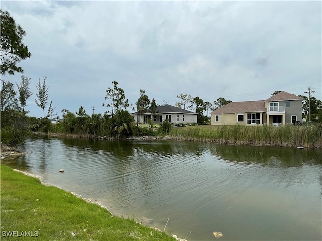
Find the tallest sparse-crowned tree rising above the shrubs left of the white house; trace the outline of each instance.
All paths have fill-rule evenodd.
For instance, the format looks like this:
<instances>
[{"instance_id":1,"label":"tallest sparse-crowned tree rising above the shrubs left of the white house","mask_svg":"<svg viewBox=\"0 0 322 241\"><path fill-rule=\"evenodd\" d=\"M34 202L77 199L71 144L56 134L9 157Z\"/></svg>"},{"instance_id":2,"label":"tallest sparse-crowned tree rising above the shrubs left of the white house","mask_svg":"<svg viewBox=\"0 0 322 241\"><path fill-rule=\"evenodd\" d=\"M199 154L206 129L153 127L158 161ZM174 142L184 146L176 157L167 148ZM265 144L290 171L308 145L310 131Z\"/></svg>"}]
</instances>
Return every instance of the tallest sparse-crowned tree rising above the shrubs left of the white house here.
<instances>
[{"instance_id":1,"label":"tallest sparse-crowned tree rising above the shrubs left of the white house","mask_svg":"<svg viewBox=\"0 0 322 241\"><path fill-rule=\"evenodd\" d=\"M125 99L124 90L117 87L118 82L112 81L113 88L108 88L106 90L105 100L110 99L111 103L108 103L106 107L112 107L112 116L115 114L121 107L125 109L129 107L129 100ZM103 104L104 106L104 104Z\"/></svg>"}]
</instances>

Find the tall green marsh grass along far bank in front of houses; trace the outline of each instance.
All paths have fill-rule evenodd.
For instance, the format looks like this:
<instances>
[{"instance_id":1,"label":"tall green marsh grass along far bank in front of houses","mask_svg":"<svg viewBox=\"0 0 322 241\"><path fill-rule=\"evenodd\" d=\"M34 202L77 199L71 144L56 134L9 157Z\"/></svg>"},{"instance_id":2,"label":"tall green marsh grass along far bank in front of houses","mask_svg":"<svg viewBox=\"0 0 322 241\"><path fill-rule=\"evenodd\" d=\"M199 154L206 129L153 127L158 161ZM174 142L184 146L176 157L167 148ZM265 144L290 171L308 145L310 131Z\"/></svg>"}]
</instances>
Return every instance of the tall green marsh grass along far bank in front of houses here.
<instances>
[{"instance_id":1,"label":"tall green marsh grass along far bank in front of houses","mask_svg":"<svg viewBox=\"0 0 322 241\"><path fill-rule=\"evenodd\" d=\"M227 144L322 147L322 125L293 126L191 126L172 128L173 139Z\"/></svg>"}]
</instances>

